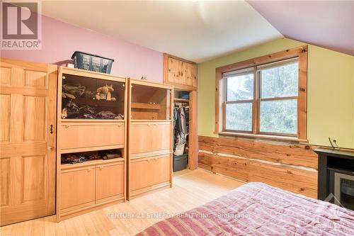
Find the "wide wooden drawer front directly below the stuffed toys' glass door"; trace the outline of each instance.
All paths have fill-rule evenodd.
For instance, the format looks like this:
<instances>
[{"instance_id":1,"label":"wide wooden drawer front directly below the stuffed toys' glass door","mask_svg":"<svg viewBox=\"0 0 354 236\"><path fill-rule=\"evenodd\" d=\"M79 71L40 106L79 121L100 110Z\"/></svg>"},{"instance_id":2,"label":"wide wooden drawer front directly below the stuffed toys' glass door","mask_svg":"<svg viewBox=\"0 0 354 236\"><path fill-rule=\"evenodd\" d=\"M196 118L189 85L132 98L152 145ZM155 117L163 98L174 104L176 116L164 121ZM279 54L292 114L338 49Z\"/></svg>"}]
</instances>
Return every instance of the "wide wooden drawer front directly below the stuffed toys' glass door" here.
<instances>
[{"instance_id":1,"label":"wide wooden drawer front directly below the stuffed toys' glass door","mask_svg":"<svg viewBox=\"0 0 354 236\"><path fill-rule=\"evenodd\" d=\"M62 149L124 144L124 123L63 123Z\"/></svg>"}]
</instances>

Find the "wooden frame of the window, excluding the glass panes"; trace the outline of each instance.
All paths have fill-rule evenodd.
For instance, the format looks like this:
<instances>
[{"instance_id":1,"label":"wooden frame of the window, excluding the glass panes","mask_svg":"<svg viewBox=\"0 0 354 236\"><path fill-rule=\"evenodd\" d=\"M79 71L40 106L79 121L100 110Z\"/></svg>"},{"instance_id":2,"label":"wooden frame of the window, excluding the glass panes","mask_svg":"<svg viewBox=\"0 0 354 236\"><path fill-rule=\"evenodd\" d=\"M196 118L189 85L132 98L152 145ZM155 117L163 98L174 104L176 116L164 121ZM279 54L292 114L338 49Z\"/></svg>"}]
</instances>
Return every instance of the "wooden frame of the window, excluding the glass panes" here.
<instances>
[{"instance_id":1,"label":"wooden frame of the window, excluding the glass panes","mask_svg":"<svg viewBox=\"0 0 354 236\"><path fill-rule=\"evenodd\" d=\"M275 98L261 98L261 69L270 67L268 64L286 64L288 60L298 61L298 92L297 96L285 96ZM261 67L258 68L258 67ZM227 72L253 71L253 99L233 101L233 103L252 102L252 130L227 130L226 129L226 104L227 79L223 74ZM216 93L215 93L215 133L219 135L236 135L252 138L271 138L277 140L306 140L307 139L307 45L295 47L282 52L256 57L244 62L229 64L215 69ZM297 133L271 133L262 132L260 125L261 101L279 101L297 99Z\"/></svg>"}]
</instances>

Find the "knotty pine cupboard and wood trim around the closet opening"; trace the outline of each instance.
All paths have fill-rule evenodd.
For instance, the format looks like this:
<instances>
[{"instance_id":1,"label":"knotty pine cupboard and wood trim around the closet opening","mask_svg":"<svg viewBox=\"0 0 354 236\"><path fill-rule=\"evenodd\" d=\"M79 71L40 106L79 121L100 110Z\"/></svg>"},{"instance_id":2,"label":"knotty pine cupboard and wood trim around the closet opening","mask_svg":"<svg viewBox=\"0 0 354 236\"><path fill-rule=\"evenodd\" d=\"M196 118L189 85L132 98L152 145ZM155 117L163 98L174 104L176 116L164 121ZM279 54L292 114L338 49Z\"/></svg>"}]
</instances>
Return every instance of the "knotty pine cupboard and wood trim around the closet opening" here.
<instances>
[{"instance_id":1,"label":"knotty pine cupboard and wood trim around the closet opening","mask_svg":"<svg viewBox=\"0 0 354 236\"><path fill-rule=\"evenodd\" d=\"M188 169L198 168L198 124L197 124L197 86L198 66L195 62L180 57L164 54L164 84L173 85L173 102L183 103L189 107L187 121L189 133L185 152L188 153ZM188 98L181 99L181 94Z\"/></svg>"}]
</instances>

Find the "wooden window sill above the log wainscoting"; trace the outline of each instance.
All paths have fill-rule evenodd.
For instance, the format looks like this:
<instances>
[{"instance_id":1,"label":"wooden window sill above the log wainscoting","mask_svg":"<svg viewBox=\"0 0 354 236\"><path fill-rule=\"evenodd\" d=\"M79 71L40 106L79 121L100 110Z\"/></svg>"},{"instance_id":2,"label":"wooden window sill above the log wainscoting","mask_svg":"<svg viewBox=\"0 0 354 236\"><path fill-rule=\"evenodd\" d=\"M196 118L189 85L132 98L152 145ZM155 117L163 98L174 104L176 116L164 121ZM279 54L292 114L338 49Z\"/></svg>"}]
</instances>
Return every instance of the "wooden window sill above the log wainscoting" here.
<instances>
[{"instance_id":1,"label":"wooden window sill above the log wainscoting","mask_svg":"<svg viewBox=\"0 0 354 236\"><path fill-rule=\"evenodd\" d=\"M253 135L251 133L219 132L221 136L244 137L253 140L273 140L279 142L301 142L308 143L309 140L301 140L297 137L277 136L277 135Z\"/></svg>"}]
</instances>

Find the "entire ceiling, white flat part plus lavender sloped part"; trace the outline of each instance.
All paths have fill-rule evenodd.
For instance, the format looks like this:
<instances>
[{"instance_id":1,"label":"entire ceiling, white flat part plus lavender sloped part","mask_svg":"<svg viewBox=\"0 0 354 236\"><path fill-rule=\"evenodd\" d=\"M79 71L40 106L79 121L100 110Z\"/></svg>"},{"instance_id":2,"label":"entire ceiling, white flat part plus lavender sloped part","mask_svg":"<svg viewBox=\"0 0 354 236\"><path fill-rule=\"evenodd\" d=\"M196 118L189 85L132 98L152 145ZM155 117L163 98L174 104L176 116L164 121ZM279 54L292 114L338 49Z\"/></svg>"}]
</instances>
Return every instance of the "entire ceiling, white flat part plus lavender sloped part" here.
<instances>
[{"instance_id":1,"label":"entire ceiling, white flat part plus lavender sloped part","mask_svg":"<svg viewBox=\"0 0 354 236\"><path fill-rule=\"evenodd\" d=\"M42 1L42 13L195 62L284 36L354 55L354 1Z\"/></svg>"}]
</instances>

